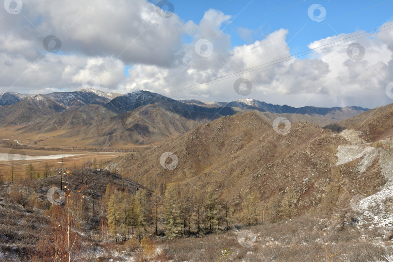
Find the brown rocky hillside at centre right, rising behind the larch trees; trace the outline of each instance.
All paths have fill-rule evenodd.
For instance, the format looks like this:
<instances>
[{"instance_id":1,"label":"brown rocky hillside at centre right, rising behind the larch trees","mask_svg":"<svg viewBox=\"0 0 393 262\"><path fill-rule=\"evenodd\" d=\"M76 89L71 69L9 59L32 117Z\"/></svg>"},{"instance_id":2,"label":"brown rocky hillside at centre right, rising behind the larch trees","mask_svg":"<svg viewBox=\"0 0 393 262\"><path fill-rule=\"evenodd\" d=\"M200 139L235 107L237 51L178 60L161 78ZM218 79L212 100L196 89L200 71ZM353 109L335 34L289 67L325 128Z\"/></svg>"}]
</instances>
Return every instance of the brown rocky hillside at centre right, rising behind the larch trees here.
<instances>
[{"instance_id":1,"label":"brown rocky hillside at centre right, rising behind the larch trees","mask_svg":"<svg viewBox=\"0 0 393 262\"><path fill-rule=\"evenodd\" d=\"M382 112L391 107L386 106ZM386 115L377 113L380 110L364 113L372 115L368 122L384 119ZM384 120L389 122L392 118L390 115ZM357 127L362 128L367 129L364 125ZM392 129L388 130L385 133ZM338 180L352 195L365 196L378 192L389 182L392 149L355 145L352 138L345 132L336 134L304 122L292 123L287 134L278 134L269 119L248 112L221 117L162 146L129 154L115 162L118 168L146 185L165 181L201 191L212 187L232 203L239 203L245 190L259 192L268 201L292 188L297 196L297 209L306 212L320 204L330 181ZM354 146L356 150L348 151L343 159L341 148ZM377 155L365 160L359 150L377 150ZM173 170L160 164L165 152L178 158ZM378 155L385 157L378 159Z\"/></svg>"}]
</instances>

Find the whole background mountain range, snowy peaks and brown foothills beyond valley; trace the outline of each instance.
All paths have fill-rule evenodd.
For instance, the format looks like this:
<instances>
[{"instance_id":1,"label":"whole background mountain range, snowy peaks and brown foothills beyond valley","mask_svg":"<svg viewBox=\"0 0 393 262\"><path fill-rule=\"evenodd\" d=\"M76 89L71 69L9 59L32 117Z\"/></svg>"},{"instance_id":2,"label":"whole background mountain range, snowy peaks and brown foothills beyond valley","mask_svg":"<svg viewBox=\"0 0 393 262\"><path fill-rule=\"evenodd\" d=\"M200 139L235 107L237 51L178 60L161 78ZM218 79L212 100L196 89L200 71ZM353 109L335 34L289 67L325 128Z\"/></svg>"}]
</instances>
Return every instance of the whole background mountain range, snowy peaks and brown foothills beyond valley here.
<instances>
[{"instance_id":1,"label":"whole background mountain range, snowy peaks and brown foothills beyond valley","mask_svg":"<svg viewBox=\"0 0 393 262\"><path fill-rule=\"evenodd\" d=\"M320 127L368 111L361 107L300 107L273 105L252 98L229 103L175 100L149 91L125 95L96 89L45 95L1 93L0 126L16 127L13 135L50 147L156 146L222 116L255 111L273 121Z\"/></svg>"}]
</instances>

